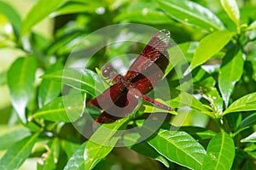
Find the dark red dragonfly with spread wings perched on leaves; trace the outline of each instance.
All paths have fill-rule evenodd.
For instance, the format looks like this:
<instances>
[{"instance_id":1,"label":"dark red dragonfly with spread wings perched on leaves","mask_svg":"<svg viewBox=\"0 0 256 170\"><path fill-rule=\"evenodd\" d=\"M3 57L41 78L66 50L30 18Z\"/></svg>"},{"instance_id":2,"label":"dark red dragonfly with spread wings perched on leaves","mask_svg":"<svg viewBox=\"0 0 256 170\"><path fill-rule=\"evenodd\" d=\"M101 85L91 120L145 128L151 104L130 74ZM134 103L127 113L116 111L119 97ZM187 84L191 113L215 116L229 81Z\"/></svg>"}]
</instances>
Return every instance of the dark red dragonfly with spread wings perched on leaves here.
<instances>
[{"instance_id":1,"label":"dark red dragonfly with spread wings perched on leaves","mask_svg":"<svg viewBox=\"0 0 256 170\"><path fill-rule=\"evenodd\" d=\"M113 86L87 104L95 105L103 110L102 114L96 118L95 123L115 122L128 116L138 104L137 97L167 111L173 111L167 105L144 95L148 94L164 76L169 64L169 55L166 52L166 48L169 47L170 32L161 30L151 38L125 76L116 74L111 66L103 69L103 77L109 77Z\"/></svg>"}]
</instances>

